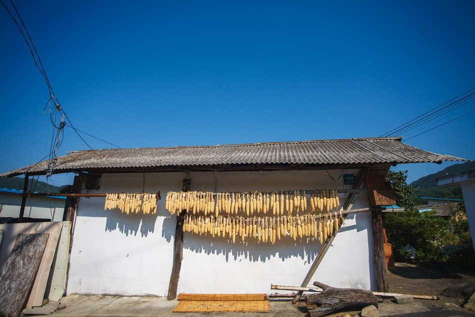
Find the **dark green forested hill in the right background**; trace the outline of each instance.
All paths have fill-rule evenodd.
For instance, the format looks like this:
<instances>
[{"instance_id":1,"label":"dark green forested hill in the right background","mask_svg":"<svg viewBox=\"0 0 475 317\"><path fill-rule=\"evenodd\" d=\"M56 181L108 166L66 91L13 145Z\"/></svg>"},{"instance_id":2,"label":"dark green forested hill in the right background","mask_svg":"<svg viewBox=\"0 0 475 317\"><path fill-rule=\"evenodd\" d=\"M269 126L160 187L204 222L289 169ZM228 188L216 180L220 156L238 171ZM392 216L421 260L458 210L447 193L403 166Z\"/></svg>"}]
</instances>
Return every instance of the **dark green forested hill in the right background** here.
<instances>
[{"instance_id":1,"label":"dark green forested hill in the right background","mask_svg":"<svg viewBox=\"0 0 475 317\"><path fill-rule=\"evenodd\" d=\"M416 205L422 204L418 197L437 197L437 198L462 198L460 186L436 186L435 179L445 175L466 172L475 169L475 161L454 164L444 168L437 173L429 174L410 183L414 187L414 202Z\"/></svg>"}]
</instances>

